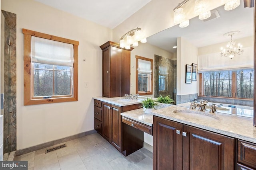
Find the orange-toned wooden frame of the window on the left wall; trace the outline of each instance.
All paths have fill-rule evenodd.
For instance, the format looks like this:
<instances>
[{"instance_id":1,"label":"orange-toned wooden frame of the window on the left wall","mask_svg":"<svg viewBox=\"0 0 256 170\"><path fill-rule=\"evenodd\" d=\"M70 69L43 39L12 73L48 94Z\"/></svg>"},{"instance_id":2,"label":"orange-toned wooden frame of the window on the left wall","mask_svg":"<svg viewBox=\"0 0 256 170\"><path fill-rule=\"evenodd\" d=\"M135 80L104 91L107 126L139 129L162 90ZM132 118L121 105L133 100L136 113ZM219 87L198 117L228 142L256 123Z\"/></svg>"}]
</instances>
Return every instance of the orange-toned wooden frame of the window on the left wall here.
<instances>
[{"instance_id":1,"label":"orange-toned wooden frame of the window on the left wall","mask_svg":"<svg viewBox=\"0 0 256 170\"><path fill-rule=\"evenodd\" d=\"M57 37L45 33L22 29L24 34L24 106L36 104L49 104L60 102L78 101L78 45L79 41ZM56 96L56 98L44 99L33 98L32 96L32 63L31 63L31 36L69 43L74 49L74 64L73 64L73 95L72 96Z\"/></svg>"}]
</instances>

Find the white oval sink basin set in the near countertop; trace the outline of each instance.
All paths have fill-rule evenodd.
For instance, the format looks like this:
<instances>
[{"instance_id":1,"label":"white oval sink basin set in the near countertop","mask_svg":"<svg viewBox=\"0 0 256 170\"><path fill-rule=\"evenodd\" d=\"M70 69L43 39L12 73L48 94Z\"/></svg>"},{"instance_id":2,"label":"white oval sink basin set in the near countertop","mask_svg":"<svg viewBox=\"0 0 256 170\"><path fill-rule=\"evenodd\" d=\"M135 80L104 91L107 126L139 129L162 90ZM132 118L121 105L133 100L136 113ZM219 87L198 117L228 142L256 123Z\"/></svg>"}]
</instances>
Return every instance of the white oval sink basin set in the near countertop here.
<instances>
[{"instance_id":1,"label":"white oval sink basin set in the near countertop","mask_svg":"<svg viewBox=\"0 0 256 170\"><path fill-rule=\"evenodd\" d=\"M196 120L216 121L219 119L217 116L212 115L211 113L193 110L174 110L173 113L189 119Z\"/></svg>"}]
</instances>

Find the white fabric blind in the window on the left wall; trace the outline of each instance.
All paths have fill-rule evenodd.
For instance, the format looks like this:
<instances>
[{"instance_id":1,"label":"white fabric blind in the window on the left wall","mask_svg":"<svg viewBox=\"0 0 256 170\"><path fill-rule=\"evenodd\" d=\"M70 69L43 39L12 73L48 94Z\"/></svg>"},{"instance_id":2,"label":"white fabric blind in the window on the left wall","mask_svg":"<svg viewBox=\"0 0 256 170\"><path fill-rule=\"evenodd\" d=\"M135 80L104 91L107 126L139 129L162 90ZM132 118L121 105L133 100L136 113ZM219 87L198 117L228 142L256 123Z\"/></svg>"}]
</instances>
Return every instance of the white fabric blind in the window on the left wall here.
<instances>
[{"instance_id":1,"label":"white fabric blind in the window on the left wall","mask_svg":"<svg viewBox=\"0 0 256 170\"><path fill-rule=\"evenodd\" d=\"M31 61L42 64L73 66L73 45L31 36Z\"/></svg>"}]
</instances>

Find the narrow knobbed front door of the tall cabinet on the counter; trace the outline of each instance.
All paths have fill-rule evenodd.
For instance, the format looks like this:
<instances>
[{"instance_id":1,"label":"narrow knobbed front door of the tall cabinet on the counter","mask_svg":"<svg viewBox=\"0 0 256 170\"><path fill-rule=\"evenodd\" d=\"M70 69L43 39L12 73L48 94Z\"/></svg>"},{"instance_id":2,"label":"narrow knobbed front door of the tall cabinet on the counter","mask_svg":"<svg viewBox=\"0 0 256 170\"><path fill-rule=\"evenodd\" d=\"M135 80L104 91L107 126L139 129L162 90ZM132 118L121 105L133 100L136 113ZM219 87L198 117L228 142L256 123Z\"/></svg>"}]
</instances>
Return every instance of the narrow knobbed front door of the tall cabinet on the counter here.
<instances>
[{"instance_id":1,"label":"narrow knobbed front door of the tall cabinet on the counter","mask_svg":"<svg viewBox=\"0 0 256 170\"><path fill-rule=\"evenodd\" d=\"M102 51L102 96L110 98L110 47Z\"/></svg>"}]
</instances>

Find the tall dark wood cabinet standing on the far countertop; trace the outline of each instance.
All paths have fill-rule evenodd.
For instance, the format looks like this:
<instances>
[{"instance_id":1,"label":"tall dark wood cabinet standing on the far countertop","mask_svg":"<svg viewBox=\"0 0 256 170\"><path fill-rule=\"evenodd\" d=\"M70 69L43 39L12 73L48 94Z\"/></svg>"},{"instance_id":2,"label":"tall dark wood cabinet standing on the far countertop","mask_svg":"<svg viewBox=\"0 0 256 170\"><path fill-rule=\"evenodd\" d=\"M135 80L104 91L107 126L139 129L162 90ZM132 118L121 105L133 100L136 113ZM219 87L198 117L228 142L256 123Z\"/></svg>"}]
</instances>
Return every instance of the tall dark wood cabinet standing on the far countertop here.
<instances>
[{"instance_id":1,"label":"tall dark wood cabinet standing on the far countertop","mask_svg":"<svg viewBox=\"0 0 256 170\"><path fill-rule=\"evenodd\" d=\"M130 94L130 50L108 41L102 49L102 96L113 98Z\"/></svg>"}]
</instances>

